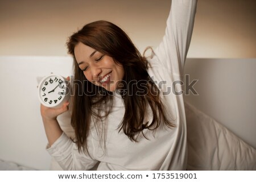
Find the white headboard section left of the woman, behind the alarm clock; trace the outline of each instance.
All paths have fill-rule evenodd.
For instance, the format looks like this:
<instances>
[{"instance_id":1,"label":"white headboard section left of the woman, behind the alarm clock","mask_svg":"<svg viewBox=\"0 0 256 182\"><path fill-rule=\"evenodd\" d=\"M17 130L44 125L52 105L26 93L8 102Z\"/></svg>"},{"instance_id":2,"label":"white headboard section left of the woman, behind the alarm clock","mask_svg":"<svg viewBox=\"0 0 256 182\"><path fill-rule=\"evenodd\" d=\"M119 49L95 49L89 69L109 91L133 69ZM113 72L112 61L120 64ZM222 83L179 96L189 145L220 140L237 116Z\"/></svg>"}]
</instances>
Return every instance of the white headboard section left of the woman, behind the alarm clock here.
<instances>
[{"instance_id":1,"label":"white headboard section left of the woman, behind the alarm clock","mask_svg":"<svg viewBox=\"0 0 256 182\"><path fill-rule=\"evenodd\" d=\"M47 170L50 156L40 115L37 77L68 76L72 59L56 56L0 57L0 159Z\"/></svg>"}]
</instances>

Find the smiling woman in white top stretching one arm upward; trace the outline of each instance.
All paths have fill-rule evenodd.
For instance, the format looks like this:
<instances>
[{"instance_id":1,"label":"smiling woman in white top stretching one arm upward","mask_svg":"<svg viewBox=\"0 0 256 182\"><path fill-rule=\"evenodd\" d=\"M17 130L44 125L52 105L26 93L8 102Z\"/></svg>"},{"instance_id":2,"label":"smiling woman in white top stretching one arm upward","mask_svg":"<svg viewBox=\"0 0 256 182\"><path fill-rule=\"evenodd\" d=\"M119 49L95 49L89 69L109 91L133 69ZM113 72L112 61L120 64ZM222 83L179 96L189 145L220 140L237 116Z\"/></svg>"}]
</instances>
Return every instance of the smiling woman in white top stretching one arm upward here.
<instances>
[{"instance_id":1,"label":"smiling woman in white top stretching one arm upward","mask_svg":"<svg viewBox=\"0 0 256 182\"><path fill-rule=\"evenodd\" d=\"M68 103L41 106L47 150L63 169L186 169L184 103L174 82L183 79L195 10L196 0L172 0L166 35L147 60L109 22L86 24L69 38L75 140L56 119Z\"/></svg>"}]
</instances>

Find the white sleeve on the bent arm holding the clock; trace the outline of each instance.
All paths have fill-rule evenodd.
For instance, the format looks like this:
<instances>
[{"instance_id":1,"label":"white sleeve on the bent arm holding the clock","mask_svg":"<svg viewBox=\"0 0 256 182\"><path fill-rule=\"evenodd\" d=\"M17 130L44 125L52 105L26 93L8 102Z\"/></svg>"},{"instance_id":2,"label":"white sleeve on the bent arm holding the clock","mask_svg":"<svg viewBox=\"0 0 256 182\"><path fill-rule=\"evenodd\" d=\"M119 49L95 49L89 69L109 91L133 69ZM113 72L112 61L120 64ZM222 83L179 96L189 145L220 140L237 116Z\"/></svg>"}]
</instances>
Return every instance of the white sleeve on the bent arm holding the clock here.
<instances>
[{"instance_id":1,"label":"white sleeve on the bent arm holding the clock","mask_svg":"<svg viewBox=\"0 0 256 182\"><path fill-rule=\"evenodd\" d=\"M97 160L79 152L76 144L65 133L47 151L64 170L89 170L97 164Z\"/></svg>"}]
</instances>

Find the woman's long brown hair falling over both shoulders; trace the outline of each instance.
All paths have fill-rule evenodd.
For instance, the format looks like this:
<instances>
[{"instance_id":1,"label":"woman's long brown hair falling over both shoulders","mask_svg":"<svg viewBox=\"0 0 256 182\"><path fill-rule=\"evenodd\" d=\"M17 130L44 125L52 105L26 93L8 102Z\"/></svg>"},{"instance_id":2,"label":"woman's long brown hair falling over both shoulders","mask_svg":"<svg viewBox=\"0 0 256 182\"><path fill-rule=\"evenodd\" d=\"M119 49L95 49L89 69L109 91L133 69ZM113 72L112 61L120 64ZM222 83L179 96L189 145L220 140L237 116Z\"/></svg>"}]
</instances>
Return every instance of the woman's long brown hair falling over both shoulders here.
<instances>
[{"instance_id":1,"label":"woman's long brown hair falling over both shoulders","mask_svg":"<svg viewBox=\"0 0 256 182\"><path fill-rule=\"evenodd\" d=\"M139 53L121 28L113 23L100 20L86 24L67 42L68 53L74 59L75 82L73 84L74 103L71 123L75 129L79 150L81 148L84 151L87 150L86 137L89 133L92 116L98 118L97 122L104 121L111 110L111 104L108 103L112 103L112 93L86 80L84 73L78 67L74 49L79 42L104 55L113 57L116 63L123 66L125 71L123 82L125 84L123 84L121 94L125 104L125 114L119 129L123 130L129 139L137 141L138 134L141 132L143 134L143 129L155 130L162 122L168 127L174 127L166 117L166 111L160 99L160 91L147 73L146 58ZM102 105L109 106L104 115L100 114L100 110L104 108ZM145 123L144 116L148 105L153 118L152 121Z\"/></svg>"}]
</instances>

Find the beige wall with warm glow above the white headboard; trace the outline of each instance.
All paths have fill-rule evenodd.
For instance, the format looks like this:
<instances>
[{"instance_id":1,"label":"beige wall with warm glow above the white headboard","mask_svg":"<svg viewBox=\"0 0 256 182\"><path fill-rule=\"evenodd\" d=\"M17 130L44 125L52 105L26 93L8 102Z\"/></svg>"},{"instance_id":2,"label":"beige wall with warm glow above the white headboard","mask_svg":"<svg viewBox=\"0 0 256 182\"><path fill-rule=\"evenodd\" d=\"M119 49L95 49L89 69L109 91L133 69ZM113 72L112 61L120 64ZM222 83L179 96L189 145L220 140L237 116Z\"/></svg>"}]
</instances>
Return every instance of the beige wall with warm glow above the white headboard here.
<instances>
[{"instance_id":1,"label":"beige wall with warm glow above the white headboard","mask_svg":"<svg viewBox=\"0 0 256 182\"><path fill-rule=\"evenodd\" d=\"M0 55L65 56L67 37L93 20L121 26L143 51L164 34L170 0L0 0ZM256 57L255 0L199 0L188 57Z\"/></svg>"}]
</instances>

